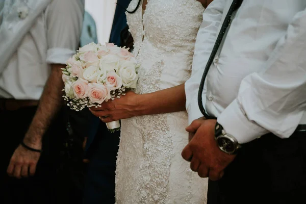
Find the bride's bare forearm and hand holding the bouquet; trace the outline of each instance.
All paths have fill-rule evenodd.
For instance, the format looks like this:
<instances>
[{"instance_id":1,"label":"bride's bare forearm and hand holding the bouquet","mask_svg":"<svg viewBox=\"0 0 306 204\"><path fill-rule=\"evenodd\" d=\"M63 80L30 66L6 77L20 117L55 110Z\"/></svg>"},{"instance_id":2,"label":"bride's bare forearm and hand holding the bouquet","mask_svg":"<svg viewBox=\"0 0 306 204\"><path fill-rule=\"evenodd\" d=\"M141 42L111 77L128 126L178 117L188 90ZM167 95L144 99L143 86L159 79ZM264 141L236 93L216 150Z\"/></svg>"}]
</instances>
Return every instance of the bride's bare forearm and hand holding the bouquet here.
<instances>
[{"instance_id":1,"label":"bride's bare forearm and hand holding the bouquet","mask_svg":"<svg viewBox=\"0 0 306 204\"><path fill-rule=\"evenodd\" d=\"M147 94L136 94L130 91L121 98L108 101L101 104L101 107L90 108L90 110L95 116L102 117L104 122L111 122L140 115L184 111L185 104L185 84L181 84Z\"/></svg>"}]
</instances>

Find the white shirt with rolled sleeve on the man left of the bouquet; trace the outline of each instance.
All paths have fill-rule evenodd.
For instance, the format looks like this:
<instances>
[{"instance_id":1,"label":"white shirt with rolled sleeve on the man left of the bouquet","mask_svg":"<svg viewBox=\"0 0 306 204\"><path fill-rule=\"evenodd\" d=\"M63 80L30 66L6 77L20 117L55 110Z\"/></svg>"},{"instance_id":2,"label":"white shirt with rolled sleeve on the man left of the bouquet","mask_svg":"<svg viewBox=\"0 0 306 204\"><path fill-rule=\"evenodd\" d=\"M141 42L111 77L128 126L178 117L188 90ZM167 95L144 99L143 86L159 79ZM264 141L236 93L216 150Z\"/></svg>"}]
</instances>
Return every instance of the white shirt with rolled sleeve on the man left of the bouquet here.
<instances>
[{"instance_id":1,"label":"white shirt with rolled sleeve on the man left of the bouquet","mask_svg":"<svg viewBox=\"0 0 306 204\"><path fill-rule=\"evenodd\" d=\"M0 25L1 29L13 31L13 36L4 36L7 40L18 38L19 33L14 31L33 16L35 11L31 5L35 1L8 0L11 8L2 12L7 16L1 17ZM65 64L75 54L82 30L84 0L49 2L32 22L0 74L0 98L39 99L50 73L50 64ZM8 52L10 48L6 48Z\"/></svg>"}]
</instances>

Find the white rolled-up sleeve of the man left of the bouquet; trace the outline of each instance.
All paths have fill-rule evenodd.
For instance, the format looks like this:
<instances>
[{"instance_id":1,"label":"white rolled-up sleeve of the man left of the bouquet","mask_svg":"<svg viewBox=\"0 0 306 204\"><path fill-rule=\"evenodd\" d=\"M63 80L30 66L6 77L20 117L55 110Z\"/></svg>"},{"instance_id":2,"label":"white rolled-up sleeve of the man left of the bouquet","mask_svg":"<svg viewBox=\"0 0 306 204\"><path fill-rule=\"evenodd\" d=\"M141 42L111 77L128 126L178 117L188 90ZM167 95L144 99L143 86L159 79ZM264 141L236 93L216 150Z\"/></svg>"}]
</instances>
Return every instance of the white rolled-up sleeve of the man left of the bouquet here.
<instances>
[{"instance_id":1,"label":"white rolled-up sleeve of the man left of the bouquet","mask_svg":"<svg viewBox=\"0 0 306 204\"><path fill-rule=\"evenodd\" d=\"M76 53L84 18L84 0L53 0L46 9L49 64L65 64Z\"/></svg>"}]
</instances>

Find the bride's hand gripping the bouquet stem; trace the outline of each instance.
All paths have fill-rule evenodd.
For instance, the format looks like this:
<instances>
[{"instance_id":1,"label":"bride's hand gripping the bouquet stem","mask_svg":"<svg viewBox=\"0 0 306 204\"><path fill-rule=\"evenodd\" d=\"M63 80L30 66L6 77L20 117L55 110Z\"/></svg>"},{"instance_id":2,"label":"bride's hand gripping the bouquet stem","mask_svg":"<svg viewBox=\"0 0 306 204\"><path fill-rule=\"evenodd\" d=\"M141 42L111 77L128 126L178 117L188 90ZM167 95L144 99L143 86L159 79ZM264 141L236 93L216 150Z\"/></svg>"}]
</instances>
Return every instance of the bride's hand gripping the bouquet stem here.
<instances>
[{"instance_id":1,"label":"bride's hand gripping the bouquet stem","mask_svg":"<svg viewBox=\"0 0 306 204\"><path fill-rule=\"evenodd\" d=\"M101 107L89 108L90 112L100 117L103 122L112 122L120 119L131 118L138 114L138 95L133 91L128 91L124 96L109 100L101 104Z\"/></svg>"}]
</instances>

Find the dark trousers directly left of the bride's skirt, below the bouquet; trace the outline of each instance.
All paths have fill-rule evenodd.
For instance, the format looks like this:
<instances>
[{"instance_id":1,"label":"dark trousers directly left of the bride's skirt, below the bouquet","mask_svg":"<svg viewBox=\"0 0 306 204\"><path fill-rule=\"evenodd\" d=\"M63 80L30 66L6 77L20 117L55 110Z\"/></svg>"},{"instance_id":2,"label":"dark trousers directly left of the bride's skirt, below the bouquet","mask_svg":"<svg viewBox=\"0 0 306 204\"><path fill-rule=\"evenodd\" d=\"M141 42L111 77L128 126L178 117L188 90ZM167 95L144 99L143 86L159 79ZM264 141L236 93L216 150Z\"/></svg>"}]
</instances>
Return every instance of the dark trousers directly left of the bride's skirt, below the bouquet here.
<instances>
[{"instance_id":1,"label":"dark trousers directly left of the bride's skirt, below the bouquet","mask_svg":"<svg viewBox=\"0 0 306 204\"><path fill-rule=\"evenodd\" d=\"M115 170L120 132L109 133L106 124L99 129L88 152L84 204L115 203Z\"/></svg>"}]
</instances>

